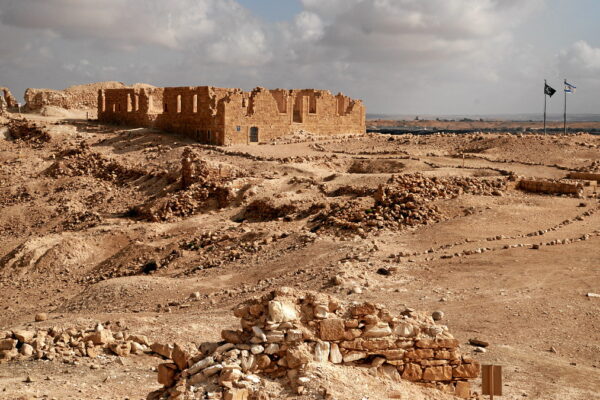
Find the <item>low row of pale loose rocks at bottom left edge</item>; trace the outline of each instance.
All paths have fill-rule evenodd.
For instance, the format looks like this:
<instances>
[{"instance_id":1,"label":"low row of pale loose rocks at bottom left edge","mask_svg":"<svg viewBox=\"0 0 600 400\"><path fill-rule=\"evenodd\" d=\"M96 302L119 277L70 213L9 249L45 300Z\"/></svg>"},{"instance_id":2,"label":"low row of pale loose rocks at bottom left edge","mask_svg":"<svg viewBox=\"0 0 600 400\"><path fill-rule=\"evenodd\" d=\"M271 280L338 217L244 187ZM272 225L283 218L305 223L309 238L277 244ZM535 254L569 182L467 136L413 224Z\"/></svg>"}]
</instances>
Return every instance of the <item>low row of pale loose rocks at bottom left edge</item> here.
<instances>
[{"instance_id":1,"label":"low row of pale loose rocks at bottom left edge","mask_svg":"<svg viewBox=\"0 0 600 400\"><path fill-rule=\"evenodd\" d=\"M120 357L152 352L160 354L163 347L151 343L146 336L112 332L102 324L90 330L54 327L0 332L0 362L27 359L68 361L77 357L95 358L101 354Z\"/></svg>"}]
</instances>

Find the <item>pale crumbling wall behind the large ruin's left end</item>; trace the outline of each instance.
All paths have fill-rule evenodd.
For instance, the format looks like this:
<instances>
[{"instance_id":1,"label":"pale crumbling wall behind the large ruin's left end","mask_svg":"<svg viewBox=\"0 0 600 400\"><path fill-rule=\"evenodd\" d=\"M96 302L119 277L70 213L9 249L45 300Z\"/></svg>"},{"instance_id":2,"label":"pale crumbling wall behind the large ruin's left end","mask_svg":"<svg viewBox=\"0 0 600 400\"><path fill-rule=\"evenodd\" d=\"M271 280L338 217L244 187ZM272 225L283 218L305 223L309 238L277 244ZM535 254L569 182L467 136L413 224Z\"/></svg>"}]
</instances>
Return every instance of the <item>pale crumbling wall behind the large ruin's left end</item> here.
<instances>
[{"instance_id":1,"label":"pale crumbling wall behind the large ruin's left end","mask_svg":"<svg viewBox=\"0 0 600 400\"><path fill-rule=\"evenodd\" d=\"M25 91L25 107L28 111L39 112L44 107L57 107L67 110L88 110L98 107L99 89L124 88L121 82L97 82L71 86L64 90L33 89Z\"/></svg>"}]
</instances>

